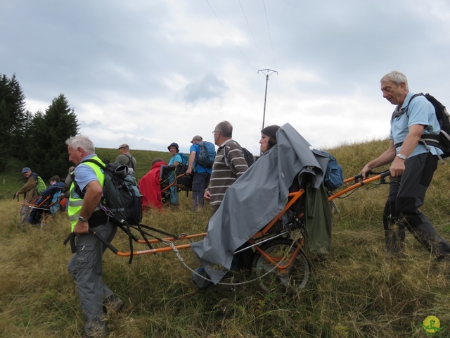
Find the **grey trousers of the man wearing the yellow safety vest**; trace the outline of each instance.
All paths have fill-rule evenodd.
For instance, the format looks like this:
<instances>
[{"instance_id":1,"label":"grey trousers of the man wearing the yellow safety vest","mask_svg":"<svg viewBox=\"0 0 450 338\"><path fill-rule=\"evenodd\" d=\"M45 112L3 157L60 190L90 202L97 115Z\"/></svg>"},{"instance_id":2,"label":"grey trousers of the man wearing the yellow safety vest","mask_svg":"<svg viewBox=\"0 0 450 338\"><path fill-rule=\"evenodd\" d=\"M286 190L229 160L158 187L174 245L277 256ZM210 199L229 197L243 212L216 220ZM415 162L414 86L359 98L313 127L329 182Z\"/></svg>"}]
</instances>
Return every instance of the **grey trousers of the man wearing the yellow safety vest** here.
<instances>
[{"instance_id":1,"label":"grey trousers of the man wearing the yellow safety vest","mask_svg":"<svg viewBox=\"0 0 450 338\"><path fill-rule=\"evenodd\" d=\"M98 225L95 230L103 238L111 242L117 231L117 226L112 223ZM103 299L113 295L113 292L103 283L103 252L104 246L94 234L83 234L75 239L77 251L73 254L68 264L68 272L77 282L79 301L84 313L86 332L91 327L105 326L103 318Z\"/></svg>"}]
</instances>

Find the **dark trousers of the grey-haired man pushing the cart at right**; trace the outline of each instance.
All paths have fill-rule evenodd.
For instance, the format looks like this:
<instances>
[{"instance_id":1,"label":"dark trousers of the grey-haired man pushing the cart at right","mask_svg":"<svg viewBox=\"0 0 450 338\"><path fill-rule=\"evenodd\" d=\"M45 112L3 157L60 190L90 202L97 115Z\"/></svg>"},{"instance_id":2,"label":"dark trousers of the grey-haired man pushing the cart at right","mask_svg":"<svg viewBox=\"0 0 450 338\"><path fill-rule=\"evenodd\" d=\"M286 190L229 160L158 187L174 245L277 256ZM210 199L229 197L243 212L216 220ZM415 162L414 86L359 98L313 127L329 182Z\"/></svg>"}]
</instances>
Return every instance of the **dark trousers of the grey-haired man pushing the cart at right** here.
<instances>
[{"instance_id":1,"label":"dark trousers of the grey-haired man pushing the cart at right","mask_svg":"<svg viewBox=\"0 0 450 338\"><path fill-rule=\"evenodd\" d=\"M430 220L418 209L437 168L437 156L420 154L406 159L405 171L390 180L389 196L383 212L386 251L404 250L405 227L437 260L450 257L450 244L439 236Z\"/></svg>"}]
</instances>

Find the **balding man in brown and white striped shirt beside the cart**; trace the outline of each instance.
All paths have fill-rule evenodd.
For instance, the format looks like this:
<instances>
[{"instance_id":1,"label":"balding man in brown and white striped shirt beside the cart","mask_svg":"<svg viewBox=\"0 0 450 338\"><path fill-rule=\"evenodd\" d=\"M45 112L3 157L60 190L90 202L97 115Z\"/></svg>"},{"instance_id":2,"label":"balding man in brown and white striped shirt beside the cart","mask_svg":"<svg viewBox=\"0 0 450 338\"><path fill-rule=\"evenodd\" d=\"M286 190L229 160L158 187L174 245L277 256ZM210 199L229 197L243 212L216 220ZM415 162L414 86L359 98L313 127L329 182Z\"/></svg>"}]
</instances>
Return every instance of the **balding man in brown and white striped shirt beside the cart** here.
<instances>
[{"instance_id":1,"label":"balding man in brown and white striped shirt beside the cart","mask_svg":"<svg viewBox=\"0 0 450 338\"><path fill-rule=\"evenodd\" d=\"M248 169L242 149L233 141L233 126L228 121L222 121L214 128L214 144L219 146L216 158L212 165L210 186L205 190L204 198L210 201L211 215L219 208L226 189L231 186ZM224 154L227 154L229 165L236 170L231 170L226 164ZM236 174L233 173L236 171Z\"/></svg>"}]
</instances>

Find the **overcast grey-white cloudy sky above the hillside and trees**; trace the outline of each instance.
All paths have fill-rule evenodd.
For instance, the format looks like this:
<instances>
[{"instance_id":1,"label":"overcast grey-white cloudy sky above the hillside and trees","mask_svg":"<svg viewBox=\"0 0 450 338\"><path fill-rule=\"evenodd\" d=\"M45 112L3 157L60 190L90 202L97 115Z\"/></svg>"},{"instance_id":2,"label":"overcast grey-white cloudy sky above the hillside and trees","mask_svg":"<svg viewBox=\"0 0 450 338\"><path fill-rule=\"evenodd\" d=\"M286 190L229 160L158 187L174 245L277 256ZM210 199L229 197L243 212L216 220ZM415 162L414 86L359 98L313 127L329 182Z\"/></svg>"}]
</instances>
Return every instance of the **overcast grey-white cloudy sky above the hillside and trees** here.
<instances>
[{"instance_id":1,"label":"overcast grey-white cloudy sky above the hillside and trees","mask_svg":"<svg viewBox=\"0 0 450 338\"><path fill-rule=\"evenodd\" d=\"M318 149L387 137L390 70L450 105L447 0L0 0L0 13L0 74L32 112L64 94L99 147L188 152L229 120L258 154L267 74L264 125Z\"/></svg>"}]
</instances>

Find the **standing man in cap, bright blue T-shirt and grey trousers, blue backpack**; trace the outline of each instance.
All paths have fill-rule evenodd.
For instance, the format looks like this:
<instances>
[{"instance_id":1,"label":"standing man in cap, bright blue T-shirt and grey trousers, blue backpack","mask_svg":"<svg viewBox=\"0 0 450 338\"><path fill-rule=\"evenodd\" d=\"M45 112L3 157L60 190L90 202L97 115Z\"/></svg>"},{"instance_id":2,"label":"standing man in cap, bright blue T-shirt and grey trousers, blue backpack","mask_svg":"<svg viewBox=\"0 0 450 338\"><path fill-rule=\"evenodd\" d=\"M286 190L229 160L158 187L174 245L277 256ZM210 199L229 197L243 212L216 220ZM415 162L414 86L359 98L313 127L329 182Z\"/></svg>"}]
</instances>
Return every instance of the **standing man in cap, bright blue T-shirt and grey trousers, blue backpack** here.
<instances>
[{"instance_id":1,"label":"standing man in cap, bright blue T-shirt and grey trousers, blue backpack","mask_svg":"<svg viewBox=\"0 0 450 338\"><path fill-rule=\"evenodd\" d=\"M203 208L205 205L203 193L208 185L210 185L212 173L212 168L205 168L203 165L200 165L195 161L198 158L198 154L200 154L200 142L202 141L203 137L200 135L195 135L192 138L192 146L189 149L188 170L186 171L187 175L191 175L192 173L194 175L192 181L192 203L194 211L198 208Z\"/></svg>"}]
</instances>

